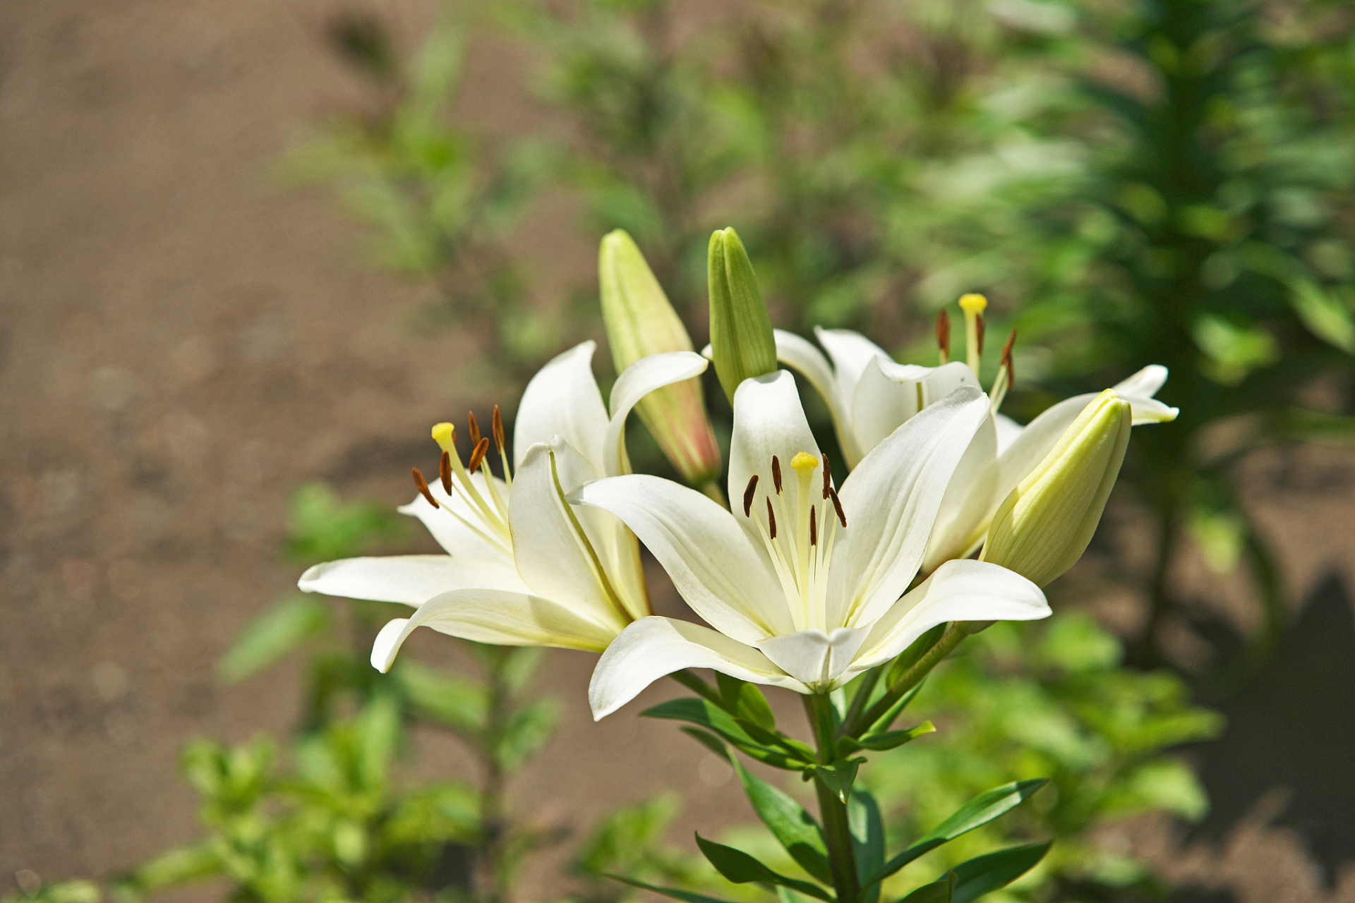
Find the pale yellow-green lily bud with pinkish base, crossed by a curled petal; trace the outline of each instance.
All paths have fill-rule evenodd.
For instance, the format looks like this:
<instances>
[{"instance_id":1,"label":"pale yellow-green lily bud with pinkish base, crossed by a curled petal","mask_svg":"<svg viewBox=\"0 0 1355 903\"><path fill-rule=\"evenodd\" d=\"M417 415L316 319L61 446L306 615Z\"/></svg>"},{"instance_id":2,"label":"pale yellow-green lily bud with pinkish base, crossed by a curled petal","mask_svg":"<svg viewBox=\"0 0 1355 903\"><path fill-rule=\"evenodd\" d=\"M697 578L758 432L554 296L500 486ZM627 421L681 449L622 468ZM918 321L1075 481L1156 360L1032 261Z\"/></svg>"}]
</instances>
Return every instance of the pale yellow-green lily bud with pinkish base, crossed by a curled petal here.
<instances>
[{"instance_id":1,"label":"pale yellow-green lily bud with pinkish base, crossed by a curled petal","mask_svg":"<svg viewBox=\"0 0 1355 903\"><path fill-rule=\"evenodd\" d=\"M598 284L618 374L648 355L692 351L691 336L678 311L668 303L640 248L621 229L606 236L598 249ZM702 486L720 474L720 445L706 416L699 379L649 393L635 412L688 483Z\"/></svg>"}]
</instances>

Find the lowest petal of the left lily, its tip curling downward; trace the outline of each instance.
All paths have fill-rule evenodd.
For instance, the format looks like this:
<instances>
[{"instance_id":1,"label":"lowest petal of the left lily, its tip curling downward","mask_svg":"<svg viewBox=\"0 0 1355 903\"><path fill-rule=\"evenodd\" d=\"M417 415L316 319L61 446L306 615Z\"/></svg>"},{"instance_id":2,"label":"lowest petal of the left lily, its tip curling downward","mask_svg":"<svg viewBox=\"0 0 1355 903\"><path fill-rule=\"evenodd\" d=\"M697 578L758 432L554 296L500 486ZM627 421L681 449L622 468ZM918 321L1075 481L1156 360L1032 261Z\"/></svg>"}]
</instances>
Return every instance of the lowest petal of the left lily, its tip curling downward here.
<instances>
[{"instance_id":1,"label":"lowest petal of the left lily, its tip curling downward","mask_svg":"<svg viewBox=\"0 0 1355 903\"><path fill-rule=\"evenodd\" d=\"M371 666L382 673L390 670L396 653L416 627L495 646L556 646L589 653L607 648L618 632L539 596L458 589L434 596L411 617L382 627L371 646Z\"/></svg>"}]
</instances>

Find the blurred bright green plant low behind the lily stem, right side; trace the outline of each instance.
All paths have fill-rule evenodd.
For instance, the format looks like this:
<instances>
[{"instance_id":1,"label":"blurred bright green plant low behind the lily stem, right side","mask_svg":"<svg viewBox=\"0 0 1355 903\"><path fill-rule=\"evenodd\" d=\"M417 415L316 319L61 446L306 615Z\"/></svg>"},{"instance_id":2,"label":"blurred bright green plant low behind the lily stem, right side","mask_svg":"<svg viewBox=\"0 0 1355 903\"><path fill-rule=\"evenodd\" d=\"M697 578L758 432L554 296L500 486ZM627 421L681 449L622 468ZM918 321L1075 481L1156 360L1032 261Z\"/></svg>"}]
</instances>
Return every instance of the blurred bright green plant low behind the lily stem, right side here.
<instances>
[{"instance_id":1,"label":"blurred bright green plant low behind the lily stem, right side","mask_svg":"<svg viewBox=\"0 0 1355 903\"><path fill-rule=\"evenodd\" d=\"M970 638L928 678L911 709L936 734L879 757L864 781L886 824L916 837L1001 781L1050 778L1026 806L932 853L936 872L1014 841L1056 838L1034 880L992 900L1160 899L1140 861L1093 842L1091 831L1144 812L1187 822L1209 800L1188 764L1164 755L1222 728L1168 670L1121 666L1121 642L1081 612L1039 624L999 621ZM923 869L924 872L927 869Z\"/></svg>"}]
</instances>

